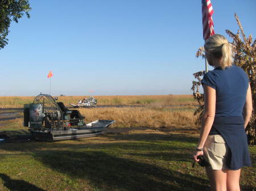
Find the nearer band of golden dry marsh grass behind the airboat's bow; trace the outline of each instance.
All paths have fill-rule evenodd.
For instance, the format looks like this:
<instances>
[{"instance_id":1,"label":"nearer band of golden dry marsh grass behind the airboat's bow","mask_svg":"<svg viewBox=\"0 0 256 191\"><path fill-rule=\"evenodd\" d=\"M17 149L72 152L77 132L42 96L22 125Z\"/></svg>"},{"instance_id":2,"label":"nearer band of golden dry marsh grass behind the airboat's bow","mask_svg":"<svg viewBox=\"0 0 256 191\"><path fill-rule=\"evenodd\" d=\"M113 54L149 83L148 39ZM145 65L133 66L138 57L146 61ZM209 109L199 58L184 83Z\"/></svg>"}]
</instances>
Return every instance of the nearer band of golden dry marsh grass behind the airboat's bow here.
<instances>
[{"instance_id":1,"label":"nearer band of golden dry marsh grass behind the airboat's bow","mask_svg":"<svg viewBox=\"0 0 256 191\"><path fill-rule=\"evenodd\" d=\"M115 120L113 126L120 128L196 128L196 117L191 108L82 108L80 112L85 116L86 122Z\"/></svg>"}]
</instances>

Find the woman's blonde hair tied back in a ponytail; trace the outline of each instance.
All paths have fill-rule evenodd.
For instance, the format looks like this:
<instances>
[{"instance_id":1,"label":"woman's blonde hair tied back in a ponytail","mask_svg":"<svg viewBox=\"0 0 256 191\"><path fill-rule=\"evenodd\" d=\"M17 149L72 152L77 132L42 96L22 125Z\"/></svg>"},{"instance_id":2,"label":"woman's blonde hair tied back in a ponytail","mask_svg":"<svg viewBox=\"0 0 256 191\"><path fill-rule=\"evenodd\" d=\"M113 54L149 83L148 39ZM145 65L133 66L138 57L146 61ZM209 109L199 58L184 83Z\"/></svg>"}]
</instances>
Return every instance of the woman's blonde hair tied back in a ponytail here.
<instances>
[{"instance_id":1,"label":"woman's blonde hair tied back in a ponytail","mask_svg":"<svg viewBox=\"0 0 256 191\"><path fill-rule=\"evenodd\" d=\"M228 39L222 35L213 35L205 41L204 49L214 57L221 59L220 66L224 70L225 67L232 66L232 48Z\"/></svg>"}]
</instances>

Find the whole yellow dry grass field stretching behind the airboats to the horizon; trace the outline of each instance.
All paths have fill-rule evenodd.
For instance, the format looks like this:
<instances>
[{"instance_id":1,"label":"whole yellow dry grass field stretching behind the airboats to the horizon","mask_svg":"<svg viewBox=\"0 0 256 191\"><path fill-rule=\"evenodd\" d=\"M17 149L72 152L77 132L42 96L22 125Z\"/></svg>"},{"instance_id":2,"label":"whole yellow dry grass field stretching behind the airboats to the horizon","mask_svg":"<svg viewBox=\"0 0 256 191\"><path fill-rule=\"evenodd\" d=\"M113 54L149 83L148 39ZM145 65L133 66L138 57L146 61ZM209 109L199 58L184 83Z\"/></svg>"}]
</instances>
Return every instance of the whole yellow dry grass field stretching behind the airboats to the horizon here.
<instances>
[{"instance_id":1,"label":"whole yellow dry grass field stretching behind the airboats to the horizon","mask_svg":"<svg viewBox=\"0 0 256 191\"><path fill-rule=\"evenodd\" d=\"M195 128L193 116L197 102L192 95L151 95L151 96L95 96L97 105L133 105L134 107L79 108L85 122L94 120L115 120L112 127L133 128ZM0 97L1 108L22 108L32 103L34 97ZM59 96L66 106L76 103L82 96ZM138 106L138 107L137 107ZM18 119L14 129L23 129ZM9 126L9 125L8 125ZM9 127L10 128L10 127ZM7 128L7 129L9 129ZM13 129L13 128L11 128Z\"/></svg>"}]
</instances>

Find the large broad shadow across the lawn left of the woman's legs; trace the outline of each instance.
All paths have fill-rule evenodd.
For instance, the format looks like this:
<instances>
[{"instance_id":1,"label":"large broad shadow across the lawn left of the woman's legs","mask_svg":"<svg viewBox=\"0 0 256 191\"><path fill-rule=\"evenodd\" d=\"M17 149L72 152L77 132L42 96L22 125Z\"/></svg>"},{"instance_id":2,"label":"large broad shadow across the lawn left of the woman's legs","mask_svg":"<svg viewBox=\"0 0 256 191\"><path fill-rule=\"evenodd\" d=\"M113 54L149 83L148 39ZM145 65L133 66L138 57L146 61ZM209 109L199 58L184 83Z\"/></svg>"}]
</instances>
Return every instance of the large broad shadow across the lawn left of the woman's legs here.
<instances>
[{"instance_id":1,"label":"large broad shadow across the lawn left of the woman's legs","mask_svg":"<svg viewBox=\"0 0 256 191\"><path fill-rule=\"evenodd\" d=\"M208 181L100 151L40 151L35 159L100 190L209 190Z\"/></svg>"}]
</instances>

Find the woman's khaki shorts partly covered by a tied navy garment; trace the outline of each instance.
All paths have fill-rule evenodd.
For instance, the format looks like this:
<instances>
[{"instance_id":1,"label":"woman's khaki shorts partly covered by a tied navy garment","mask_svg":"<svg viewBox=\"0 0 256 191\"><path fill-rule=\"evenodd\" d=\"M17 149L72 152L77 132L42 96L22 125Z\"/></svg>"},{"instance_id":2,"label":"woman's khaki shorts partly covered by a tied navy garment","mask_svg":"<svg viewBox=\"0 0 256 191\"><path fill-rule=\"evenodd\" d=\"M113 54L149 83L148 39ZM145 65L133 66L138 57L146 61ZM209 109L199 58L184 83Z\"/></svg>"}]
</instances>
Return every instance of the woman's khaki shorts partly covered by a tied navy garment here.
<instances>
[{"instance_id":1,"label":"woman's khaki shorts partly covered by a tied navy garment","mask_svg":"<svg viewBox=\"0 0 256 191\"><path fill-rule=\"evenodd\" d=\"M208 135L204 145L204 155L213 170L226 169L228 146L221 135Z\"/></svg>"}]
</instances>

